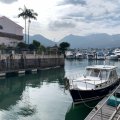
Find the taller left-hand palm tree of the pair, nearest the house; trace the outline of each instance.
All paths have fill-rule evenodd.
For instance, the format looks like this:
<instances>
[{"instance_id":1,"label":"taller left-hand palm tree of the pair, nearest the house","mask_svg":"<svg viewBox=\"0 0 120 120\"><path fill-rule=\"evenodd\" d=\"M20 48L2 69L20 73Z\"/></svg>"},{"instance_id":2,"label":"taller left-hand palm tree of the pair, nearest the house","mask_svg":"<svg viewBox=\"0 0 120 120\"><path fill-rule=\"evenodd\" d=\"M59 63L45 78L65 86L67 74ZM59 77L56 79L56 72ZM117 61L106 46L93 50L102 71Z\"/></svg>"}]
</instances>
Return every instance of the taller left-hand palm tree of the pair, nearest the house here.
<instances>
[{"instance_id":1,"label":"taller left-hand palm tree of the pair, nearest the house","mask_svg":"<svg viewBox=\"0 0 120 120\"><path fill-rule=\"evenodd\" d=\"M22 12L20 14L18 14L18 17L22 17L25 20L25 43L26 43L26 19L28 18L28 9L26 8L26 6L24 6L24 9L19 8L19 10L21 10Z\"/></svg>"}]
</instances>

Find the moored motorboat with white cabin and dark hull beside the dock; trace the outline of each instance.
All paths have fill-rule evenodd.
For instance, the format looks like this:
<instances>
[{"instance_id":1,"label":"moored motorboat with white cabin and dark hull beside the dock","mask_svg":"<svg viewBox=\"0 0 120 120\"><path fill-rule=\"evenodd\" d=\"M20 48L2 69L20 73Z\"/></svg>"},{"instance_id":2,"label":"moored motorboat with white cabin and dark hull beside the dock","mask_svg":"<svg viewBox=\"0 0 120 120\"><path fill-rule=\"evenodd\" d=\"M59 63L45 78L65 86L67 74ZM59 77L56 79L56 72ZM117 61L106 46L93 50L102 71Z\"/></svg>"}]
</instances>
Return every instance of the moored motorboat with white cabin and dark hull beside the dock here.
<instances>
[{"instance_id":1,"label":"moored motorboat with white cabin and dark hull beside the dock","mask_svg":"<svg viewBox=\"0 0 120 120\"><path fill-rule=\"evenodd\" d=\"M69 91L74 103L103 98L119 84L116 66L93 65L86 67L86 74L69 80Z\"/></svg>"}]
</instances>

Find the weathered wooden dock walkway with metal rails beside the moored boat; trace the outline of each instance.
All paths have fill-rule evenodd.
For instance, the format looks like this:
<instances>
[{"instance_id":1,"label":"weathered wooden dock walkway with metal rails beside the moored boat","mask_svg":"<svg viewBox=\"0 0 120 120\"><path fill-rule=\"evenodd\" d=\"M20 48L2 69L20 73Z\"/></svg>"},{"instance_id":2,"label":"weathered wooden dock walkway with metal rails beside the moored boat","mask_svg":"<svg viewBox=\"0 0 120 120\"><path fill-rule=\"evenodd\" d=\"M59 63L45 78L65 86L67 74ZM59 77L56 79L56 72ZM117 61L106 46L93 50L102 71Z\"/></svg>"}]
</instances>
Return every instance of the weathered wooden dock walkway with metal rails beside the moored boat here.
<instances>
[{"instance_id":1,"label":"weathered wooden dock walkway with metal rails beside the moored boat","mask_svg":"<svg viewBox=\"0 0 120 120\"><path fill-rule=\"evenodd\" d=\"M106 97L104 97L89 113L85 120L120 120L120 105L118 107L107 105L107 100L118 89L120 89L120 85L113 90L112 94L108 94Z\"/></svg>"}]
</instances>

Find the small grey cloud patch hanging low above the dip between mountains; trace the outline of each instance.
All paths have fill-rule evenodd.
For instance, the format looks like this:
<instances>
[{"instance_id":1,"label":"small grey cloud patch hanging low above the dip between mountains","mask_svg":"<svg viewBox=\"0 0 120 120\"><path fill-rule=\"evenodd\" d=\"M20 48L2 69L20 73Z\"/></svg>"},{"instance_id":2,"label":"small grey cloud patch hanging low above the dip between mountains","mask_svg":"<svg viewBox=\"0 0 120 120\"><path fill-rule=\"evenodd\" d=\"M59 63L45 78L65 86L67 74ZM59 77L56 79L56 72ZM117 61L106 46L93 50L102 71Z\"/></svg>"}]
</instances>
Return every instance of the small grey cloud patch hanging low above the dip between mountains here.
<instances>
[{"instance_id":1,"label":"small grey cloud patch hanging low above the dip between mountains","mask_svg":"<svg viewBox=\"0 0 120 120\"><path fill-rule=\"evenodd\" d=\"M51 21L48 25L50 30L60 30L60 29L69 29L76 27L76 24L71 21L59 20Z\"/></svg>"}]
</instances>

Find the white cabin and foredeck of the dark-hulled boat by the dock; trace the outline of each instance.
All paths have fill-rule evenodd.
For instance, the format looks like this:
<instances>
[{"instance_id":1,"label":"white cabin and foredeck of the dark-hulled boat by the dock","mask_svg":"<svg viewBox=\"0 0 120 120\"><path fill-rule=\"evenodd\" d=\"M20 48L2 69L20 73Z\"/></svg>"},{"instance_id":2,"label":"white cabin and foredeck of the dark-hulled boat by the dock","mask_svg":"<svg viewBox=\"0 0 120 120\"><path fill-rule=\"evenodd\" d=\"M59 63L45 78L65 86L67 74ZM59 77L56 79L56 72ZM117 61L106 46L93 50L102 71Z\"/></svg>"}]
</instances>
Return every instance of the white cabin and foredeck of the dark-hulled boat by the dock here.
<instances>
[{"instance_id":1,"label":"white cabin and foredeck of the dark-hulled boat by the dock","mask_svg":"<svg viewBox=\"0 0 120 120\"><path fill-rule=\"evenodd\" d=\"M96 86L101 88L102 85L106 85L104 83L111 83L118 79L116 68L116 66L110 65L88 66L85 75L72 81L73 88L81 90L95 89ZM111 82L108 82L108 80Z\"/></svg>"}]
</instances>

